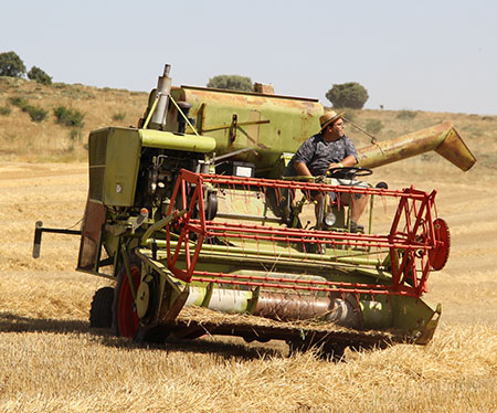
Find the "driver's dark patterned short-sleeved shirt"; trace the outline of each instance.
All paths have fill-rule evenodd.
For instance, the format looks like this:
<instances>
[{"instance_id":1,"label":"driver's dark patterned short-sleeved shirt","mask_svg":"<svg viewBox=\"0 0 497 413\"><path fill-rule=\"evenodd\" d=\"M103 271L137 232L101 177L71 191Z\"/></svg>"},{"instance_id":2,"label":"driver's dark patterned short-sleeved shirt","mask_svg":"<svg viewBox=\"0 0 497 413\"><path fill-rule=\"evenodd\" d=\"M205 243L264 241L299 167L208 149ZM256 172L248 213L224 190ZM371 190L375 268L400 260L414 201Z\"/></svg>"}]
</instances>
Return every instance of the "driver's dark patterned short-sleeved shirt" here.
<instances>
[{"instance_id":1,"label":"driver's dark patterned short-sleeved shirt","mask_svg":"<svg viewBox=\"0 0 497 413\"><path fill-rule=\"evenodd\" d=\"M297 152L292 158L294 162L303 162L310 173L316 177L326 174L330 163L341 162L348 156L353 155L358 160L356 146L343 135L340 139L326 141L322 134L316 134L302 144Z\"/></svg>"}]
</instances>

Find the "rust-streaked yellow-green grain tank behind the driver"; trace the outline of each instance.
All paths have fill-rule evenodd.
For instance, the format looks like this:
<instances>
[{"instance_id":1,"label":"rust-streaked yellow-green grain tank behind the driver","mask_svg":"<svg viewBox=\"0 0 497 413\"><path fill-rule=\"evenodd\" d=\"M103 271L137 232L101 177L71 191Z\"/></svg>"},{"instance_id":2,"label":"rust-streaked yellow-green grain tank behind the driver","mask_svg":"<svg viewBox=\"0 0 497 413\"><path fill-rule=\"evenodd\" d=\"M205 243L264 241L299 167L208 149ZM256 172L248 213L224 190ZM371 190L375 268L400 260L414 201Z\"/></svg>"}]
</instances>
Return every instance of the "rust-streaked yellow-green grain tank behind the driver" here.
<instances>
[{"instance_id":1,"label":"rust-streaked yellow-green grain tank behind the driver","mask_svg":"<svg viewBox=\"0 0 497 413\"><path fill-rule=\"evenodd\" d=\"M200 87L173 88L175 99L192 105L190 116L197 128L216 140L216 155L253 148L237 159L257 169L273 169L283 152L295 152L319 131L322 105L317 99L256 93L239 93ZM175 128L176 108L168 115ZM193 133L188 130L187 133Z\"/></svg>"}]
</instances>

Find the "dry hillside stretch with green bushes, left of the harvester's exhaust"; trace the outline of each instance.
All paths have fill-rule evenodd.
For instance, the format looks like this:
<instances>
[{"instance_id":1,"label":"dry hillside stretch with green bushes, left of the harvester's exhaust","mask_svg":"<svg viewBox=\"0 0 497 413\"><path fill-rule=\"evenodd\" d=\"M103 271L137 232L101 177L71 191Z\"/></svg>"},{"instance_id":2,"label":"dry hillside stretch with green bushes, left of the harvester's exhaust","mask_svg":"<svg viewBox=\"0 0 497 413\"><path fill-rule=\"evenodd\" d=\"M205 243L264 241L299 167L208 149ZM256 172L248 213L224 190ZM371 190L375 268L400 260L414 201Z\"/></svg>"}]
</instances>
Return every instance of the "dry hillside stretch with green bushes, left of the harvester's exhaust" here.
<instances>
[{"instance_id":1,"label":"dry hillside stretch with green bushes, left of the harvester's exhaust","mask_svg":"<svg viewBox=\"0 0 497 413\"><path fill-rule=\"evenodd\" d=\"M45 119L33 121L12 104L12 98L46 110ZM0 159L86 160L88 133L105 126L136 126L147 99L145 92L63 83L44 86L34 81L0 77ZM83 127L59 125L53 110L60 106L81 112Z\"/></svg>"}]
</instances>

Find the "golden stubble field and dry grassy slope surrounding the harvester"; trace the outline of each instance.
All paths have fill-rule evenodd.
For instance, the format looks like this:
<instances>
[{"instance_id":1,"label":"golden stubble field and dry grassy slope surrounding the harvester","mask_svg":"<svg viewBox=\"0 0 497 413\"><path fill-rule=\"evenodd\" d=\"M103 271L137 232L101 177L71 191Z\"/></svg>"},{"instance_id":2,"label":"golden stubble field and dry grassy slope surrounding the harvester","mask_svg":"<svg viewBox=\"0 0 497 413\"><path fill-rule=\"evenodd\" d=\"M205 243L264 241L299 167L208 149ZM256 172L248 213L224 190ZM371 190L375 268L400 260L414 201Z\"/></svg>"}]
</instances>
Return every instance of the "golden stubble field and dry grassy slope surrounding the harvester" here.
<instances>
[{"instance_id":1,"label":"golden stubble field and dry grassy slope surrounding the harvester","mask_svg":"<svg viewBox=\"0 0 497 413\"><path fill-rule=\"evenodd\" d=\"M53 100L36 102L55 105L44 87ZM113 113L129 113L125 125L136 124L146 102L145 94L75 87L96 96L64 100L87 112L88 129L112 124ZM13 93L0 89L0 106ZM91 330L91 299L106 282L73 269L77 237L44 234L41 258L31 257L36 220L78 226L87 191L84 138L68 150L67 131L53 119L34 124L17 110L0 115L0 412L497 410L497 117L417 113L401 121L395 112L356 114L358 124L383 123L379 138L452 120L478 163L462 172L426 155L376 170L373 180L391 188L438 192L452 250L446 267L432 273L425 298L442 303L442 319L426 347L347 352L346 361L332 363L313 353L287 357L287 347L273 341L202 338L146 347Z\"/></svg>"}]
</instances>

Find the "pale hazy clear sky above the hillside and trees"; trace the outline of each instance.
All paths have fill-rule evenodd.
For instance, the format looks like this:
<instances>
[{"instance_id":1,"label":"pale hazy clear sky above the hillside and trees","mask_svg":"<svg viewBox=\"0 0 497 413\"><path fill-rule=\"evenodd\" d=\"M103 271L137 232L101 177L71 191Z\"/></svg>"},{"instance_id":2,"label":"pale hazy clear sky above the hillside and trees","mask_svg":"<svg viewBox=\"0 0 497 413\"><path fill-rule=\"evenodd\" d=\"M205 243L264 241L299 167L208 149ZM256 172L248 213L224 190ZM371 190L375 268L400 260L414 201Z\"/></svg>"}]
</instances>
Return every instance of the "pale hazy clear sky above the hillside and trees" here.
<instances>
[{"instance_id":1,"label":"pale hazy clear sky above the hillside and trees","mask_svg":"<svg viewBox=\"0 0 497 413\"><path fill-rule=\"evenodd\" d=\"M0 53L53 82L148 92L220 74L318 98L359 82L366 108L497 115L497 1L2 0Z\"/></svg>"}]
</instances>

